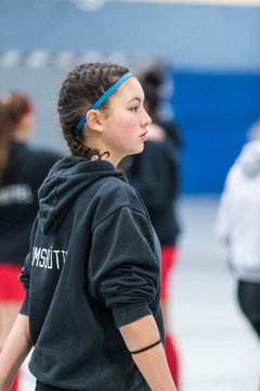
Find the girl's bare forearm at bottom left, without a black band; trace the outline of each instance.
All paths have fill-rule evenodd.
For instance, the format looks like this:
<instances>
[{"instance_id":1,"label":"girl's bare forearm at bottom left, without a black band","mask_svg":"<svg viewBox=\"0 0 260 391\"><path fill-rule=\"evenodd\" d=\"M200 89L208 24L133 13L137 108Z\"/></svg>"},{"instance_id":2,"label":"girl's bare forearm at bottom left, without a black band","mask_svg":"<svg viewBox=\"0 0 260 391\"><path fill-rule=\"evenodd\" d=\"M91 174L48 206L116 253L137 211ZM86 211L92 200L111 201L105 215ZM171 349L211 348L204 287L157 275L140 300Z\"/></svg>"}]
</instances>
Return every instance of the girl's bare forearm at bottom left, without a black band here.
<instances>
[{"instance_id":1,"label":"girl's bare forearm at bottom left, without a black band","mask_svg":"<svg viewBox=\"0 0 260 391\"><path fill-rule=\"evenodd\" d=\"M0 354L0 391L9 391L32 348L28 316L18 314Z\"/></svg>"}]
</instances>

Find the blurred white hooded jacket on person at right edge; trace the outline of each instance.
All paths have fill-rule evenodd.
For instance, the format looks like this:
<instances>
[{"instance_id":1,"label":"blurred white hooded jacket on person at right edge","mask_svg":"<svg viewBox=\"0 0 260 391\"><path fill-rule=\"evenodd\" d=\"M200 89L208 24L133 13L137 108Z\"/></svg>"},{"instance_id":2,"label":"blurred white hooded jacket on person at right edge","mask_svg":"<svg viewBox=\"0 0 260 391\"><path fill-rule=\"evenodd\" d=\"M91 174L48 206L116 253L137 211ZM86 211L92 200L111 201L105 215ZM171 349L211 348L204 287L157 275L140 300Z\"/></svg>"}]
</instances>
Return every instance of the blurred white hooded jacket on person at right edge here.
<instances>
[{"instance_id":1,"label":"blurred white hooded jacket on person at right edge","mask_svg":"<svg viewBox=\"0 0 260 391\"><path fill-rule=\"evenodd\" d=\"M260 140L245 144L226 176L217 235L235 276L260 282Z\"/></svg>"}]
</instances>

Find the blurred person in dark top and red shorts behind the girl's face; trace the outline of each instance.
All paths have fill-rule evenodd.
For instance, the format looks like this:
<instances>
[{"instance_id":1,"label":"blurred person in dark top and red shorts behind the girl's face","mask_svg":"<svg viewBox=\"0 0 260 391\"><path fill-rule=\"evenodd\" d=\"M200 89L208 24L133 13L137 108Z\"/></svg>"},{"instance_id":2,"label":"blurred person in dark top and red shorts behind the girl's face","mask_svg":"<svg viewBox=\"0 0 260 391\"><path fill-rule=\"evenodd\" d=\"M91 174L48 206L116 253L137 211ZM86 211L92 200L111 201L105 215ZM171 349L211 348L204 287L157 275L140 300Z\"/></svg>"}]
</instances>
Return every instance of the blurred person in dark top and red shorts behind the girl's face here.
<instances>
[{"instance_id":1,"label":"blurred person in dark top and red shorts behind the girl's face","mask_svg":"<svg viewBox=\"0 0 260 391\"><path fill-rule=\"evenodd\" d=\"M147 70L140 78L144 90L144 106L153 123L148 140L139 155L127 157L122 171L129 182L141 194L161 245L161 297L166 328L166 355L178 390L180 390L180 360L169 325L169 282L178 258L179 153L182 148L180 130L174 122L158 118L160 87L164 74L160 67Z\"/></svg>"}]
</instances>

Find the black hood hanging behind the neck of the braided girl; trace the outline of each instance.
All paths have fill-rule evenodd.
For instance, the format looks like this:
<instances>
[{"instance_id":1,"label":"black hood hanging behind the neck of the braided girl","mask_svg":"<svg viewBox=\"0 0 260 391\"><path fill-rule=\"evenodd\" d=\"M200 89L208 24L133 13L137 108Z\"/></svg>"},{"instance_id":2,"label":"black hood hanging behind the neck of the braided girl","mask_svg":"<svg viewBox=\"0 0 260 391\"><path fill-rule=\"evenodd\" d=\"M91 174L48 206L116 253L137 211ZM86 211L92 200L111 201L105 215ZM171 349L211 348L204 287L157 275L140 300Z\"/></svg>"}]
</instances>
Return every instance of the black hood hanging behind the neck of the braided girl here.
<instances>
[{"instance_id":1,"label":"black hood hanging behind the neck of the braided girl","mask_svg":"<svg viewBox=\"0 0 260 391\"><path fill-rule=\"evenodd\" d=\"M87 161L68 156L56 162L39 189L39 223L43 234L55 230L77 195L91 184L107 176L126 181L107 161Z\"/></svg>"}]
</instances>

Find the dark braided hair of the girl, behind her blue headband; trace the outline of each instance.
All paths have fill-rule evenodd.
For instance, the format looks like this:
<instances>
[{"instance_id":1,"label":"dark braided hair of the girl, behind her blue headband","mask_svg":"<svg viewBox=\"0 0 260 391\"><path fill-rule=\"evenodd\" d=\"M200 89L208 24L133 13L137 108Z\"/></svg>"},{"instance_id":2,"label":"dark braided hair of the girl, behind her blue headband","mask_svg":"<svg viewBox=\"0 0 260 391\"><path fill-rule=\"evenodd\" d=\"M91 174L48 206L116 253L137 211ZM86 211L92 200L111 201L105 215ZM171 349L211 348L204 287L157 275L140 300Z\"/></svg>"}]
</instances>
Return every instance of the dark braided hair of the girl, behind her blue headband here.
<instances>
[{"instance_id":1,"label":"dark braided hair of the girl, behind her blue headband","mask_svg":"<svg viewBox=\"0 0 260 391\"><path fill-rule=\"evenodd\" d=\"M73 155L88 160L93 156L102 157L99 150L83 143L83 135L76 131L76 125L98 99L127 72L129 70L120 65L84 63L68 73L60 91L57 112L64 138ZM102 104L101 110L107 111L108 108L109 99Z\"/></svg>"}]
</instances>

